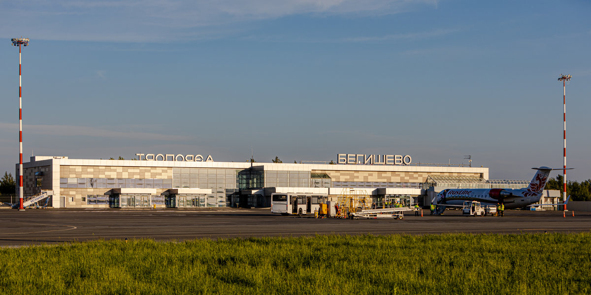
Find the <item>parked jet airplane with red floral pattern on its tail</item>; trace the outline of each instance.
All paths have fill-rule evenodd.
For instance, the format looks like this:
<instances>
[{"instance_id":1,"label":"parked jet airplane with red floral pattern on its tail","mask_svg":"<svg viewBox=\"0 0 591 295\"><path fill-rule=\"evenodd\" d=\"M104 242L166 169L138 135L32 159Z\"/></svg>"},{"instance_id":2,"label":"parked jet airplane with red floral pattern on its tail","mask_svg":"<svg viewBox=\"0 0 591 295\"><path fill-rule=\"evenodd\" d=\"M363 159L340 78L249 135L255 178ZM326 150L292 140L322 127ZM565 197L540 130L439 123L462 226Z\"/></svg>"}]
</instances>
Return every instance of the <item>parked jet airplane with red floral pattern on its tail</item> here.
<instances>
[{"instance_id":1,"label":"parked jet airplane with red floral pattern on its tail","mask_svg":"<svg viewBox=\"0 0 591 295\"><path fill-rule=\"evenodd\" d=\"M431 201L436 205L436 214L440 215L447 207L462 207L464 201L478 201L481 205L497 205L504 204L505 209L517 209L527 206L547 206L547 205L566 205L569 198L560 204L535 204L542 198L542 191L546 182L548 182L548 175L553 170L546 166L540 168L531 168L537 170L534 178L531 179L530 185L522 189L508 189L508 188L488 188L488 189L444 189L439 192ZM573 168L570 168L573 169Z\"/></svg>"}]
</instances>

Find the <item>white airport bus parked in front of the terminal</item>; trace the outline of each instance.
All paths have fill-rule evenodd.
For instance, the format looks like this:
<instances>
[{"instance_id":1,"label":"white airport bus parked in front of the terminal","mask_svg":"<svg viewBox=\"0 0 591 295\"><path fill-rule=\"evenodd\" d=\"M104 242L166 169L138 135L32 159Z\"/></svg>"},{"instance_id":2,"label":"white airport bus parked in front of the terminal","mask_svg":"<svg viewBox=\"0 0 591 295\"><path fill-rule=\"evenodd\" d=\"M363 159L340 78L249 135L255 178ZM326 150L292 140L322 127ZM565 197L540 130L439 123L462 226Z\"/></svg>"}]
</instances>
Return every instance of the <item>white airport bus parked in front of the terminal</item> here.
<instances>
[{"instance_id":1,"label":"white airport bus parked in front of the terminal","mask_svg":"<svg viewBox=\"0 0 591 295\"><path fill-rule=\"evenodd\" d=\"M326 204L328 195L322 194L271 194L271 213L281 215L314 214L320 208L320 204Z\"/></svg>"}]
</instances>

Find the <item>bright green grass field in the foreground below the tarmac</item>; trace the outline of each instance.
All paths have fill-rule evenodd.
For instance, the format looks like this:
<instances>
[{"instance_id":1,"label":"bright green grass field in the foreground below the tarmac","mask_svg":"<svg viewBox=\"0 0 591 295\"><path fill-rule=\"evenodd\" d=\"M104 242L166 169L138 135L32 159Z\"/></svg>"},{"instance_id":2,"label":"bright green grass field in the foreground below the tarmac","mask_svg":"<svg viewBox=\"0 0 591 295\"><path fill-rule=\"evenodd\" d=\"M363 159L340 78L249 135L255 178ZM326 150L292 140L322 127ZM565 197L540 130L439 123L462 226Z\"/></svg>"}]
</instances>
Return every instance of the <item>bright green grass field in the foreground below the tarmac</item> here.
<instances>
[{"instance_id":1,"label":"bright green grass field in the foreground below the tarmac","mask_svg":"<svg viewBox=\"0 0 591 295\"><path fill-rule=\"evenodd\" d=\"M0 294L589 294L591 234L95 241L0 250Z\"/></svg>"}]
</instances>

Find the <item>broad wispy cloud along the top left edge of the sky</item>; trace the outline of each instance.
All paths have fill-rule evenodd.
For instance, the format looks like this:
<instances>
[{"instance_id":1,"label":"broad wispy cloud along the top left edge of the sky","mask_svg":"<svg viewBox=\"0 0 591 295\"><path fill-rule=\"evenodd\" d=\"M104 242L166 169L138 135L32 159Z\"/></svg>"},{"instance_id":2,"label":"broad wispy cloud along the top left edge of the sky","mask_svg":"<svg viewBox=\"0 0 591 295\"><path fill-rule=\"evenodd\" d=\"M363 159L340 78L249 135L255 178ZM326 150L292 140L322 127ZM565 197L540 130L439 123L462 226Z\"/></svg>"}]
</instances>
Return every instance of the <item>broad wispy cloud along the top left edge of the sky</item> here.
<instances>
[{"instance_id":1,"label":"broad wispy cloud along the top left edge of the sky","mask_svg":"<svg viewBox=\"0 0 591 295\"><path fill-rule=\"evenodd\" d=\"M0 1L0 35L14 37L18 31L32 40L190 41L245 30L245 22L289 15L387 15L431 4L437 6L437 1Z\"/></svg>"}]
</instances>

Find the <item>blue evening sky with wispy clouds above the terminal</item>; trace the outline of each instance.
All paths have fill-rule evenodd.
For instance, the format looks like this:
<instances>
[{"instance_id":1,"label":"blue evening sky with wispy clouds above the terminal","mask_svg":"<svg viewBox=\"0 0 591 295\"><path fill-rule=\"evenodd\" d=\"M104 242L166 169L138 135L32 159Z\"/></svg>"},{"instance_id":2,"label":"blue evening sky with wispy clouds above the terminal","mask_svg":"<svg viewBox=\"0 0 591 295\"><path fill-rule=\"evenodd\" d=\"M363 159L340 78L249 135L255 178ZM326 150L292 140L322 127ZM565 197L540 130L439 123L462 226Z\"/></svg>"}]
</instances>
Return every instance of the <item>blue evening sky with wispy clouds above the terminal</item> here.
<instances>
[{"instance_id":1,"label":"blue evening sky with wispy clouds above the terminal","mask_svg":"<svg viewBox=\"0 0 591 295\"><path fill-rule=\"evenodd\" d=\"M591 2L0 0L0 171L23 156L337 153L591 178ZM551 176L556 176L554 172ZM2 173L3 174L3 173Z\"/></svg>"}]
</instances>

